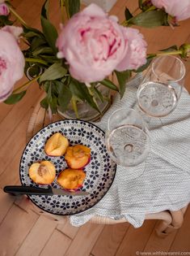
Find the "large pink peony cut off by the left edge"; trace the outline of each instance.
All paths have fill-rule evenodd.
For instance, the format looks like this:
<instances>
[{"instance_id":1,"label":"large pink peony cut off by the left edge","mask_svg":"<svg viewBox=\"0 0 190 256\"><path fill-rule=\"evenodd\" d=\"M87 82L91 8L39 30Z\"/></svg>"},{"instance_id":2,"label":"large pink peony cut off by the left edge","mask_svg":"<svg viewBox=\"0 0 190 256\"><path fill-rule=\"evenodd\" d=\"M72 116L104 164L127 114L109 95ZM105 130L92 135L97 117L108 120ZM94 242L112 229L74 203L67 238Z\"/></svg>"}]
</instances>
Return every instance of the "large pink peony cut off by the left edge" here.
<instances>
[{"instance_id":1,"label":"large pink peony cut off by the left edge","mask_svg":"<svg viewBox=\"0 0 190 256\"><path fill-rule=\"evenodd\" d=\"M15 82L23 76L24 64L15 37L0 29L0 102L9 97Z\"/></svg>"}]
</instances>

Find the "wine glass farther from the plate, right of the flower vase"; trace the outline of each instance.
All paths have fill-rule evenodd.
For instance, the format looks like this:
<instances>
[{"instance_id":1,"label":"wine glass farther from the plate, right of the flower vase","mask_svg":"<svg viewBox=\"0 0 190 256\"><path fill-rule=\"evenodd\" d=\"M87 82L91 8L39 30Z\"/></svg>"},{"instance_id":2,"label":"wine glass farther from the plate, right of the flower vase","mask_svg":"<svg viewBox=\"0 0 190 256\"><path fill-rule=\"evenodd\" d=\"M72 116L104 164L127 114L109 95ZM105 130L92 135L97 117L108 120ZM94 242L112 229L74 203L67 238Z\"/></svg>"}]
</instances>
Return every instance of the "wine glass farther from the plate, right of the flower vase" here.
<instances>
[{"instance_id":1,"label":"wine glass farther from the plate, right of the flower vase","mask_svg":"<svg viewBox=\"0 0 190 256\"><path fill-rule=\"evenodd\" d=\"M163 117L177 106L184 85L184 63L175 56L160 56L152 62L137 89L141 111Z\"/></svg>"}]
</instances>

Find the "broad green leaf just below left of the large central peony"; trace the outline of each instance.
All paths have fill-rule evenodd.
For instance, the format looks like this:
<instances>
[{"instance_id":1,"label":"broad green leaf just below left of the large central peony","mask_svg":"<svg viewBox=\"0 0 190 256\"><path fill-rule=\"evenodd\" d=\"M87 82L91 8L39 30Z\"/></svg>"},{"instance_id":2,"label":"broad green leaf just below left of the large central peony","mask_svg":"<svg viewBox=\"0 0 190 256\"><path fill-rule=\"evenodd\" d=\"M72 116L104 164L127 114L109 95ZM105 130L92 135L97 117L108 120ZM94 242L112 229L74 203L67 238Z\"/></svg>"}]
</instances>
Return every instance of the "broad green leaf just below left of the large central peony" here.
<instances>
[{"instance_id":1,"label":"broad green leaf just below left of the large central peony","mask_svg":"<svg viewBox=\"0 0 190 256\"><path fill-rule=\"evenodd\" d=\"M40 76L40 83L44 80L56 80L65 76L67 70L61 67L61 63L54 63Z\"/></svg>"}]
</instances>

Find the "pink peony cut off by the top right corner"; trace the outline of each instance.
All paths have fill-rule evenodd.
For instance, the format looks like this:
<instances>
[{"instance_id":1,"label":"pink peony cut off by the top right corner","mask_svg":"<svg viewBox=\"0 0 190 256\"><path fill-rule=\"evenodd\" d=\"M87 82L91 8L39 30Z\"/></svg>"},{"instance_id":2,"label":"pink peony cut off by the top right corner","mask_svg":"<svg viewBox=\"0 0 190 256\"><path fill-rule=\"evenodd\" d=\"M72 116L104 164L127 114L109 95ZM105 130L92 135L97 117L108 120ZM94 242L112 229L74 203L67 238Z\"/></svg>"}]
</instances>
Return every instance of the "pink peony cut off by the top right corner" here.
<instances>
[{"instance_id":1,"label":"pink peony cut off by the top right corner","mask_svg":"<svg viewBox=\"0 0 190 256\"><path fill-rule=\"evenodd\" d=\"M151 0L155 7L164 10L177 21L190 17L190 0Z\"/></svg>"}]
</instances>

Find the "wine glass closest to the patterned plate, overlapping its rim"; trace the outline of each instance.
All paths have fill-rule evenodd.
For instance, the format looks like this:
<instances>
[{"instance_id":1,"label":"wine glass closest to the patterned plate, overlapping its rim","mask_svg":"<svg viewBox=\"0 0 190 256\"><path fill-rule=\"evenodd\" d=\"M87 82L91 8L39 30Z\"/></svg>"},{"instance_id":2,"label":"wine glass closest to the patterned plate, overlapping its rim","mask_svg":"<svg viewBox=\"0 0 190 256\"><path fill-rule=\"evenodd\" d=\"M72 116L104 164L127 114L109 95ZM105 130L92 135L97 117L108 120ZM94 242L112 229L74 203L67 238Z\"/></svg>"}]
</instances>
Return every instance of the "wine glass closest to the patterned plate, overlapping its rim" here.
<instances>
[{"instance_id":1,"label":"wine glass closest to the patterned plate, overlapping its rim","mask_svg":"<svg viewBox=\"0 0 190 256\"><path fill-rule=\"evenodd\" d=\"M142 163L150 151L150 137L141 115L133 109L118 109L108 119L108 154L116 163L133 167Z\"/></svg>"}]
</instances>

